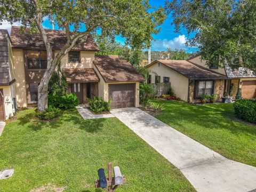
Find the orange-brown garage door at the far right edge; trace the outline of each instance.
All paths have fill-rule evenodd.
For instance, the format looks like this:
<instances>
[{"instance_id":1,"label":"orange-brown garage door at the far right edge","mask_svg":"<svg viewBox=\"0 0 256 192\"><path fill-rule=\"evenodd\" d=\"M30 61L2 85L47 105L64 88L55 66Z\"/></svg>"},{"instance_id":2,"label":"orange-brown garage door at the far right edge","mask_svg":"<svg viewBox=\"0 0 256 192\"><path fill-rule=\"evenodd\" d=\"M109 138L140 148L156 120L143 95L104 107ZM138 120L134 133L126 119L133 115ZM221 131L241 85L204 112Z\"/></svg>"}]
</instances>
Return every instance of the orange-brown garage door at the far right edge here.
<instances>
[{"instance_id":1,"label":"orange-brown garage door at the far right edge","mask_svg":"<svg viewBox=\"0 0 256 192\"><path fill-rule=\"evenodd\" d=\"M243 81L242 97L247 99L256 97L256 81Z\"/></svg>"}]
</instances>

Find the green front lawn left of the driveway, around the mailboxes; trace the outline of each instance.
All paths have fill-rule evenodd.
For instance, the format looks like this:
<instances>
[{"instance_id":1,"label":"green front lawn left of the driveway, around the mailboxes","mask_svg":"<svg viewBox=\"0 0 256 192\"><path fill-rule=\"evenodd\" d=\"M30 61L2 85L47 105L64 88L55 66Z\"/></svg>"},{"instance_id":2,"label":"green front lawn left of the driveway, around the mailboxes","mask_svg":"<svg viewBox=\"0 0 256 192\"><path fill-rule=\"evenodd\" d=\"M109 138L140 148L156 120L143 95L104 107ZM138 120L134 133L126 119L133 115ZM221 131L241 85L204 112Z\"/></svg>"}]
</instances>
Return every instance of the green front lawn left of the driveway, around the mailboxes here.
<instances>
[{"instance_id":1,"label":"green front lawn left of the driveway, around the mailboxes","mask_svg":"<svg viewBox=\"0 0 256 192\"><path fill-rule=\"evenodd\" d=\"M51 122L34 116L34 109L19 111L0 137L0 170L14 169L11 178L0 180L1 192L47 185L103 191L94 189L94 180L108 162L120 166L127 179L117 191L195 191L178 169L117 118L85 121L77 111Z\"/></svg>"}]
</instances>

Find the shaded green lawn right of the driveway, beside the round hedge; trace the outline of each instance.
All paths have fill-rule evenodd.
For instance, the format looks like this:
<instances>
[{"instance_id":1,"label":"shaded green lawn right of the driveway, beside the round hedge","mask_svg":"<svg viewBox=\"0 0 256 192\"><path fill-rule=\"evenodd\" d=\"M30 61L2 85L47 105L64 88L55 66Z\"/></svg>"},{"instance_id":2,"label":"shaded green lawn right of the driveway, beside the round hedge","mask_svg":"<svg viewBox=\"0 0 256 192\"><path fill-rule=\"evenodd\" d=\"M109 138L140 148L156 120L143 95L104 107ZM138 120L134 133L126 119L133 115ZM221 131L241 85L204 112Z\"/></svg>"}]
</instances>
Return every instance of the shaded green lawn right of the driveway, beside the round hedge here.
<instances>
[{"instance_id":1,"label":"shaded green lawn right of the driveway, beside the round hedge","mask_svg":"<svg viewBox=\"0 0 256 192\"><path fill-rule=\"evenodd\" d=\"M256 125L237 119L232 103L153 101L165 105L156 116L162 122L227 158L256 166Z\"/></svg>"}]
</instances>

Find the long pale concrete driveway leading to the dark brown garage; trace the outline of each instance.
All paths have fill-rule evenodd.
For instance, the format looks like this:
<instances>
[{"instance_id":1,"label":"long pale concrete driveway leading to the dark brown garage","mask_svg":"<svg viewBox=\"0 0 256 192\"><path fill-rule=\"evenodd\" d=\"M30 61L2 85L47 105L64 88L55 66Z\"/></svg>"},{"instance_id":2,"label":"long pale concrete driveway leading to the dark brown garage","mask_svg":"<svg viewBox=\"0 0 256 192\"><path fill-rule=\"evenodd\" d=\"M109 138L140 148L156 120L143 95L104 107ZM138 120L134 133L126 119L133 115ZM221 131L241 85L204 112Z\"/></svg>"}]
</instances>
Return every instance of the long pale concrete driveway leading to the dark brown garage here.
<instances>
[{"instance_id":1,"label":"long pale concrete driveway leading to the dark brown garage","mask_svg":"<svg viewBox=\"0 0 256 192\"><path fill-rule=\"evenodd\" d=\"M178 167L197 191L256 189L256 167L231 161L138 108L111 113Z\"/></svg>"}]
</instances>

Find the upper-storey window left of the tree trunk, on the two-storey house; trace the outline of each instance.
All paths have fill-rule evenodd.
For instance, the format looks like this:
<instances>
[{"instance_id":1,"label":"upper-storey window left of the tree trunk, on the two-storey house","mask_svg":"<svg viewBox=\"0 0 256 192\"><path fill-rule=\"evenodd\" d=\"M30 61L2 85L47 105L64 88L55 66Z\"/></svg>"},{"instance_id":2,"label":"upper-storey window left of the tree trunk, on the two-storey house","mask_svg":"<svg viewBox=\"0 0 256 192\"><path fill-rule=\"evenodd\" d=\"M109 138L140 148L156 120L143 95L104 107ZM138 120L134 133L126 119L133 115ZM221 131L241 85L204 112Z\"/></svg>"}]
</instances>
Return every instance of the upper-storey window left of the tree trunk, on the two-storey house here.
<instances>
[{"instance_id":1,"label":"upper-storey window left of the tree trunk, on the two-storey house","mask_svg":"<svg viewBox=\"0 0 256 192\"><path fill-rule=\"evenodd\" d=\"M47 53L46 51L28 50L27 51L29 69L46 69Z\"/></svg>"}]
</instances>

